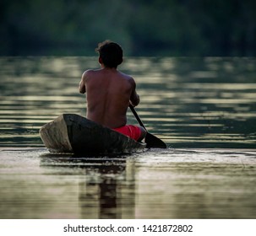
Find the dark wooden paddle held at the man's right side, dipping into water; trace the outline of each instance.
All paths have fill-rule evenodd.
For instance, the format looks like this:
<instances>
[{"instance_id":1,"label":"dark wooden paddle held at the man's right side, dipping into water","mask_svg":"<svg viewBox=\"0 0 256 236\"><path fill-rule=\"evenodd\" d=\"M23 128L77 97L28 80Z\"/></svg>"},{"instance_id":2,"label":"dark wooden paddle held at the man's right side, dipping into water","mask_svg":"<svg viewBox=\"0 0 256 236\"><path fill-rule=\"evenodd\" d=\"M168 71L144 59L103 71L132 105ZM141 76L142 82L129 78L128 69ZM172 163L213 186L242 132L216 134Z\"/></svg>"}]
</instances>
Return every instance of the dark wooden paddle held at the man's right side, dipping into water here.
<instances>
[{"instance_id":1,"label":"dark wooden paddle held at the man's right side, dipping into water","mask_svg":"<svg viewBox=\"0 0 256 236\"><path fill-rule=\"evenodd\" d=\"M144 124L139 118L139 115L137 114L136 110L133 108L133 105L129 105L130 110L133 111L133 115L135 116L136 120L139 122L139 125L144 127L146 130ZM146 137L144 139L144 142L147 143L147 148L167 148L166 143L162 142L160 138L155 137L153 134L150 134L147 131Z\"/></svg>"}]
</instances>

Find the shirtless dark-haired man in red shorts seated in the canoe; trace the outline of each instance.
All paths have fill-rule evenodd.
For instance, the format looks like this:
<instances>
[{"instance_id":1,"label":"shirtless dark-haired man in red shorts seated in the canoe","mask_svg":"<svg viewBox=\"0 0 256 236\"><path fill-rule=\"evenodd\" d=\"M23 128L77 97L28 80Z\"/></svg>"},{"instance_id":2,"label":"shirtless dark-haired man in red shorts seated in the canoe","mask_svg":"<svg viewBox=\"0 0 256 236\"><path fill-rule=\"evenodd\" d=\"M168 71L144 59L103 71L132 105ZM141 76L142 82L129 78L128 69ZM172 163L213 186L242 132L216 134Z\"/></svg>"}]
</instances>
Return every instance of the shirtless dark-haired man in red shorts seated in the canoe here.
<instances>
[{"instance_id":1,"label":"shirtless dark-haired man in red shorts seated in the canoe","mask_svg":"<svg viewBox=\"0 0 256 236\"><path fill-rule=\"evenodd\" d=\"M96 51L101 69L85 71L79 83L79 92L86 93L86 117L140 142L146 135L144 128L126 124L128 105L139 105L139 95L134 79L117 70L123 62L123 50L114 42L104 41Z\"/></svg>"}]
</instances>

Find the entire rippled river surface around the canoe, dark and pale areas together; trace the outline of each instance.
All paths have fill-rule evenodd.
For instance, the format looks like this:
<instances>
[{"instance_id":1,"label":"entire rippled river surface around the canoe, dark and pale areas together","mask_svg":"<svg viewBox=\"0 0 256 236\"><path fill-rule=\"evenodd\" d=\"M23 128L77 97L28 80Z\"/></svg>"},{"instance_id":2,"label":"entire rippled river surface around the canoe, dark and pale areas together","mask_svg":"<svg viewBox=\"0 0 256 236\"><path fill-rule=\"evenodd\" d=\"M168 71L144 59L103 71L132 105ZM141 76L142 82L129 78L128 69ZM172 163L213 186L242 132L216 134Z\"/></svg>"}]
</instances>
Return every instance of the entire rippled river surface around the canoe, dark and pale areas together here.
<instances>
[{"instance_id":1,"label":"entire rippled river surface around the canoe, dark and pale areas together","mask_svg":"<svg viewBox=\"0 0 256 236\"><path fill-rule=\"evenodd\" d=\"M52 155L38 134L85 115L78 85L96 57L0 65L1 218L256 217L255 58L125 58L137 112L168 148L117 157Z\"/></svg>"}]
</instances>

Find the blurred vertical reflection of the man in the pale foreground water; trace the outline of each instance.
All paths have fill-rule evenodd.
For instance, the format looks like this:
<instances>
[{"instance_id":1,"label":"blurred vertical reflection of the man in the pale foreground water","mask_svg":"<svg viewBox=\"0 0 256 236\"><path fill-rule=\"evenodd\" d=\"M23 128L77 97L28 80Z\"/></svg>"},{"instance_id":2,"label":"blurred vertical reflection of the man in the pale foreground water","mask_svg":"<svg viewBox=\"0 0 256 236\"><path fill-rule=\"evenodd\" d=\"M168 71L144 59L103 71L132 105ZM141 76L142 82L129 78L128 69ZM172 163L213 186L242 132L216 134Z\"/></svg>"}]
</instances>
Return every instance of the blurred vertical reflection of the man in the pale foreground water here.
<instances>
[{"instance_id":1,"label":"blurred vertical reflection of the man in the pale foreground water","mask_svg":"<svg viewBox=\"0 0 256 236\"><path fill-rule=\"evenodd\" d=\"M121 158L103 161L86 160L85 183L79 184L82 218L135 217L135 163Z\"/></svg>"}]
</instances>

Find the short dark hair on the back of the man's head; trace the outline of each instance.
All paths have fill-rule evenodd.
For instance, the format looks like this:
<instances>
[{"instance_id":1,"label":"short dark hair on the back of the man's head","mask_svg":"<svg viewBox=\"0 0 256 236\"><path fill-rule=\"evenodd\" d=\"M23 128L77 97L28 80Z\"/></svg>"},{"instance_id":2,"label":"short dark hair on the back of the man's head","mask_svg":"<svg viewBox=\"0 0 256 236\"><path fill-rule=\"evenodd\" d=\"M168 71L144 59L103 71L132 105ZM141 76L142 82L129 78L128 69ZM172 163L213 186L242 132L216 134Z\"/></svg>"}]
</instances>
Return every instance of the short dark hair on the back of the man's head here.
<instances>
[{"instance_id":1,"label":"short dark hair on the back of the man's head","mask_svg":"<svg viewBox=\"0 0 256 236\"><path fill-rule=\"evenodd\" d=\"M99 43L96 51L99 52L105 67L117 68L123 62L122 47L110 40Z\"/></svg>"}]
</instances>

